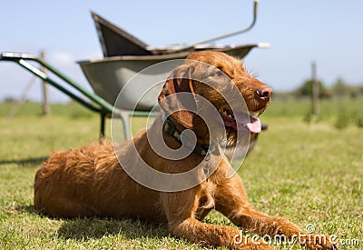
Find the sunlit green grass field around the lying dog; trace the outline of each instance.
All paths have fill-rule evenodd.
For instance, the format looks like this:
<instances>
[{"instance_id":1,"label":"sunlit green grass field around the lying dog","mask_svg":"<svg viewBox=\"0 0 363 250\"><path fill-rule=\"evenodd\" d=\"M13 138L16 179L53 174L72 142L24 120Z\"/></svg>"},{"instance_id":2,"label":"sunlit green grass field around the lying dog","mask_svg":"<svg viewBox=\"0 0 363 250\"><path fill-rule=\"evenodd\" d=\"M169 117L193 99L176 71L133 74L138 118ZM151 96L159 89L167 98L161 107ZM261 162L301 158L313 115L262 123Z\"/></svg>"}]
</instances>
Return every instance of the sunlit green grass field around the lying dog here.
<instances>
[{"instance_id":1,"label":"sunlit green grass field around the lying dog","mask_svg":"<svg viewBox=\"0 0 363 250\"><path fill-rule=\"evenodd\" d=\"M341 249L363 247L363 129L350 120L363 115L359 104L361 99L327 101L320 108L323 117L309 124L303 122L307 101L271 104L261 117L269 130L239 170L256 209L289 217L302 228L314 225L340 240L360 241ZM339 105L349 117L344 129L335 126ZM97 141L99 117L75 104L54 105L53 115L43 117L40 105L26 104L9 119L9 108L0 105L0 249L204 249L172 237L165 225L36 213L35 171L52 150ZM230 224L218 213L206 222Z\"/></svg>"}]
</instances>

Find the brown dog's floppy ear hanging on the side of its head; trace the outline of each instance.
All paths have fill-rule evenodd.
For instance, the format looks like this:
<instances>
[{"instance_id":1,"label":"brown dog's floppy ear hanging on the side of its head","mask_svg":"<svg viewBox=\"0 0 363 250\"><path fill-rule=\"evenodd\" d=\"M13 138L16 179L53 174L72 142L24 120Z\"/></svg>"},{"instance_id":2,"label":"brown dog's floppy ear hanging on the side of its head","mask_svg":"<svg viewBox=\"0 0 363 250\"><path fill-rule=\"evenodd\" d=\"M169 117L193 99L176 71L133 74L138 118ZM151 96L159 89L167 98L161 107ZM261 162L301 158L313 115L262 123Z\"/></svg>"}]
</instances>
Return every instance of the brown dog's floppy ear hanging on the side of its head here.
<instances>
[{"instance_id":1,"label":"brown dog's floppy ear hanging on the side of its head","mask_svg":"<svg viewBox=\"0 0 363 250\"><path fill-rule=\"evenodd\" d=\"M192 79L194 70L194 64L175 68L163 85L158 98L163 111L187 128L192 128L197 109Z\"/></svg>"}]
</instances>

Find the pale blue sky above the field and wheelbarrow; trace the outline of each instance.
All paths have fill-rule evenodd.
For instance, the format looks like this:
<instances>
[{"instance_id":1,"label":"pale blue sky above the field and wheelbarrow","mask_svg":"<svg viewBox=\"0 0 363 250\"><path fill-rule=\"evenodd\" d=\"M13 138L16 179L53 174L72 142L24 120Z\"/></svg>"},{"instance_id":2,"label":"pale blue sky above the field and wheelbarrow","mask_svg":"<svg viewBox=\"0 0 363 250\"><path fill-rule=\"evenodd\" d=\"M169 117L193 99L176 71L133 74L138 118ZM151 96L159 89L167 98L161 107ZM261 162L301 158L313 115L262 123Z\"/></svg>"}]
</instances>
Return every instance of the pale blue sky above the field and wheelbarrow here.
<instances>
[{"instance_id":1,"label":"pale blue sky above the field and wheelbarrow","mask_svg":"<svg viewBox=\"0 0 363 250\"><path fill-rule=\"evenodd\" d=\"M49 63L90 89L76 61L101 58L90 11L148 45L197 42L250 23L252 0L240 1L22 1L1 2L0 51L46 53ZM342 77L363 85L363 1L260 0L259 19L247 34L219 44L270 43L245 58L246 67L277 91L297 88L309 78L311 62L326 85ZM14 63L0 62L0 100L18 97L31 75ZM28 94L40 100L40 85ZM54 102L67 100L52 90Z\"/></svg>"}]
</instances>

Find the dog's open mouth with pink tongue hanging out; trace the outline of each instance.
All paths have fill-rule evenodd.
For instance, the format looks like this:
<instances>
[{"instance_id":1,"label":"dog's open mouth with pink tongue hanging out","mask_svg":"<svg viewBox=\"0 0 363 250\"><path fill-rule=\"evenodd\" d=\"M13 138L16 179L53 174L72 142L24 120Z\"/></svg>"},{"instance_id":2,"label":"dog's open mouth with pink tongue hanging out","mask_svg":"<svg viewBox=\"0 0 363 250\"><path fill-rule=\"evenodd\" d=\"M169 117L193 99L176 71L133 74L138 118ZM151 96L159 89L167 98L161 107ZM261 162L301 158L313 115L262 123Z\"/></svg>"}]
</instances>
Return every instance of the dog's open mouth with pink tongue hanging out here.
<instances>
[{"instance_id":1,"label":"dog's open mouth with pink tongue hanging out","mask_svg":"<svg viewBox=\"0 0 363 250\"><path fill-rule=\"evenodd\" d=\"M236 131L247 128L253 134L259 134L261 132L260 119L257 117L259 115L258 113L234 115L230 110L223 108L220 110L220 114L223 119L223 124L226 127L231 127Z\"/></svg>"}]
</instances>

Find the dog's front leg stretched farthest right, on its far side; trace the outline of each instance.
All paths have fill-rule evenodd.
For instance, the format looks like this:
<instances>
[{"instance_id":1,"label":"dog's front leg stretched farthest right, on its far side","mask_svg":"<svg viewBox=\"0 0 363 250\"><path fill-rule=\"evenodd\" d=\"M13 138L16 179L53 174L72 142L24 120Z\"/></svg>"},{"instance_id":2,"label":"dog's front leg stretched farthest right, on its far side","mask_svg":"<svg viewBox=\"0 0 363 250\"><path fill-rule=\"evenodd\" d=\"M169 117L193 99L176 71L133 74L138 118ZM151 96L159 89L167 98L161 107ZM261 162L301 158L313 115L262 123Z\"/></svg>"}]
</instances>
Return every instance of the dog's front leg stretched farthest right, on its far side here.
<instances>
[{"instance_id":1,"label":"dog's front leg stretched farthest right, on its far side","mask_svg":"<svg viewBox=\"0 0 363 250\"><path fill-rule=\"evenodd\" d=\"M240 181L240 176L221 180L215 195L216 209L250 234L270 241L306 245L309 249L338 249L329 235L309 235L286 218L272 217L252 209Z\"/></svg>"}]
</instances>

